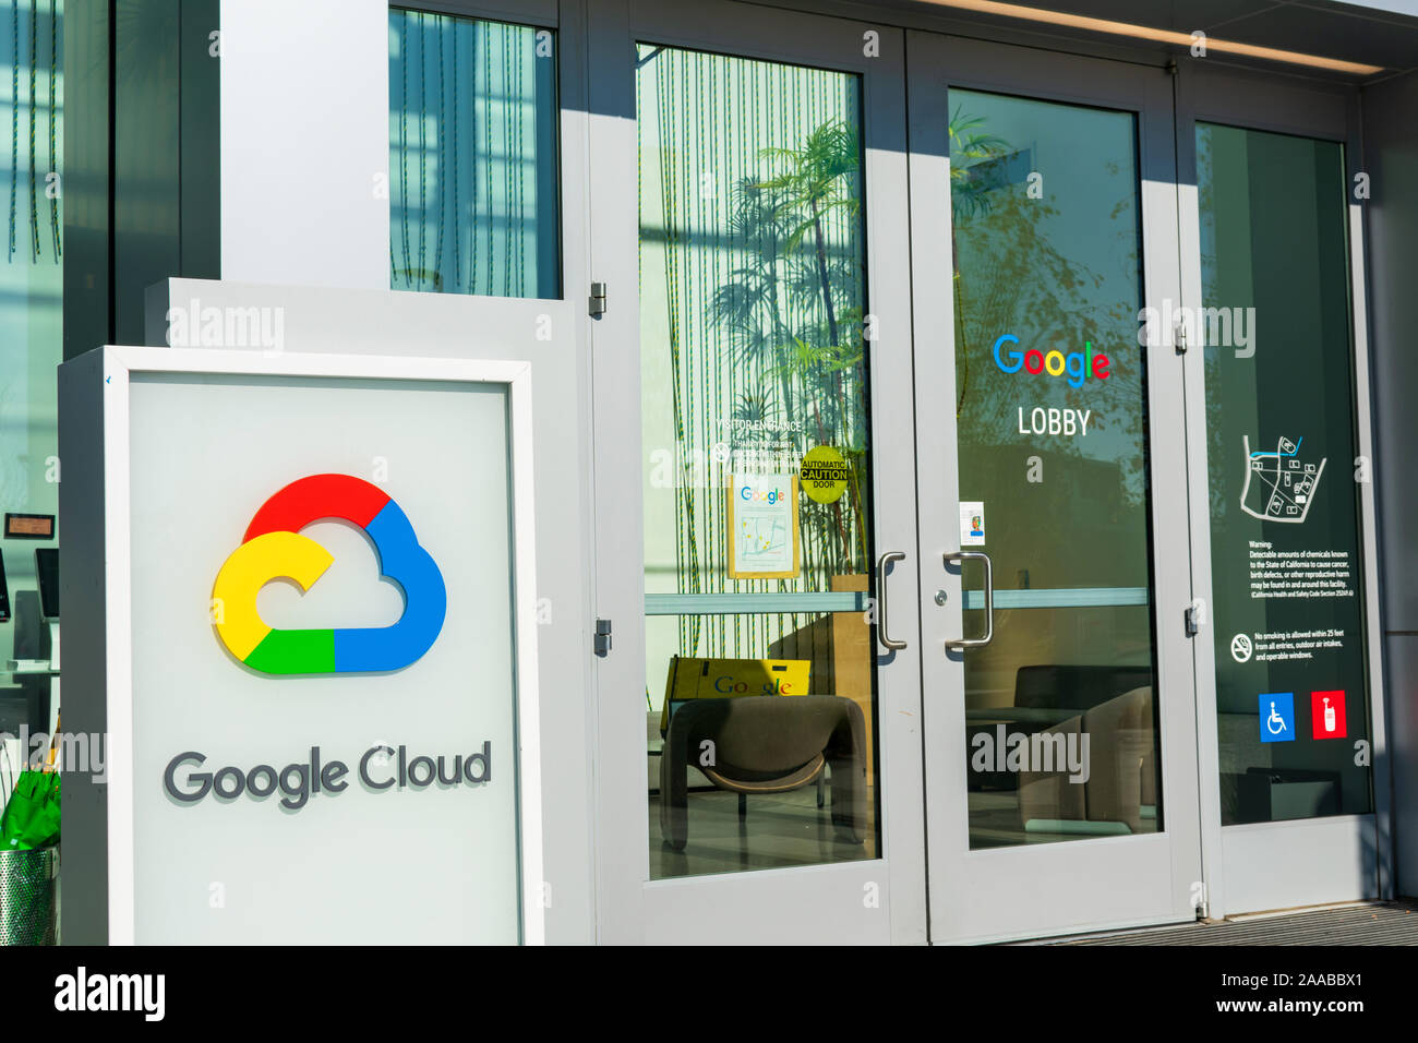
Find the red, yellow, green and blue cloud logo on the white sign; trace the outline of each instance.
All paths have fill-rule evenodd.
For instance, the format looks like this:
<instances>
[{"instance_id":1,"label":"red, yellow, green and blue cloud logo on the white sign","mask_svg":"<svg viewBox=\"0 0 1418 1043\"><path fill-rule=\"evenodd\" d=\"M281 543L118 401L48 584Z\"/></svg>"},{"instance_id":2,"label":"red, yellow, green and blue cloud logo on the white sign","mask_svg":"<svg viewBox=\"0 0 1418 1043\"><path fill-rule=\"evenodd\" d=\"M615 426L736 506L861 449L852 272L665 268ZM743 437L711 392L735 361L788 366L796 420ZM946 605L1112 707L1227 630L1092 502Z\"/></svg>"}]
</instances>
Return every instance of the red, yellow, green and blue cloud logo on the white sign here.
<instances>
[{"instance_id":1,"label":"red, yellow, green and blue cloud logo on the white sign","mask_svg":"<svg viewBox=\"0 0 1418 1043\"><path fill-rule=\"evenodd\" d=\"M404 589L404 614L387 627L277 630L257 613L257 593L275 579L301 590L335 561L301 529L323 519L359 525L374 541L380 575ZM398 670L432 647L448 595L408 518L377 485L347 474L291 482L257 511L241 546L217 572L213 626L227 650L262 674L347 674Z\"/></svg>"}]
</instances>

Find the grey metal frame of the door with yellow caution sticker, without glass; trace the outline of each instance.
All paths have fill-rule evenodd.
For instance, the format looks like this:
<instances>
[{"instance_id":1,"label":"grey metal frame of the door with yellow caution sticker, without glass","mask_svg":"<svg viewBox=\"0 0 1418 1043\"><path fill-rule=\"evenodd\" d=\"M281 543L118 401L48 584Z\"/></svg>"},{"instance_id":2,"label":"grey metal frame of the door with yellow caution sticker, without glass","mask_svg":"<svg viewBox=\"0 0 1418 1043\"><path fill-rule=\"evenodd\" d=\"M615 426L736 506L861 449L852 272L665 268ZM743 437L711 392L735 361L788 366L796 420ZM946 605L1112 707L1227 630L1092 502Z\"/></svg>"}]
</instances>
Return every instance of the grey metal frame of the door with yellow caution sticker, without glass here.
<instances>
[{"instance_id":1,"label":"grey metal frame of the door with yellow caution sticker, without glass","mask_svg":"<svg viewBox=\"0 0 1418 1043\"><path fill-rule=\"evenodd\" d=\"M732 0L588 0L591 278L610 302L591 324L596 616L613 647L594 660L597 890L603 942L925 942L920 670L909 562L891 578L895 637L876 646L878 859L649 880L645 785L644 521L634 44L649 41L852 72L862 82L873 545L917 546L915 504L905 41L888 26ZM879 57L866 54L875 33ZM627 465L628 461L637 461ZM895 504L896 509L883 507ZM873 627L875 630L875 627ZM873 636L875 643L875 636Z\"/></svg>"}]
</instances>

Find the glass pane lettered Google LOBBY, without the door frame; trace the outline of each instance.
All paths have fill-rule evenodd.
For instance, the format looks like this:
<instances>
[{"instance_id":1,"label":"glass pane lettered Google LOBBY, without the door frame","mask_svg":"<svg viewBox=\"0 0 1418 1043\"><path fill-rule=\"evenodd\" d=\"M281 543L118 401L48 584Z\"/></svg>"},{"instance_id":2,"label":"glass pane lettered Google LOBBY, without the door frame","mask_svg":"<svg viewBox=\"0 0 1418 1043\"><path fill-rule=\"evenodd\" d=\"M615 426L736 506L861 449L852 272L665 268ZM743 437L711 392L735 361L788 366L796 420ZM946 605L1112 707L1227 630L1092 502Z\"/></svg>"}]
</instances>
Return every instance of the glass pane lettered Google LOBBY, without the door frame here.
<instances>
[{"instance_id":1,"label":"glass pane lettered Google LOBBY, without the door frame","mask_svg":"<svg viewBox=\"0 0 1418 1043\"><path fill-rule=\"evenodd\" d=\"M1156 833L1136 121L950 91L950 140L970 846Z\"/></svg>"}]
</instances>

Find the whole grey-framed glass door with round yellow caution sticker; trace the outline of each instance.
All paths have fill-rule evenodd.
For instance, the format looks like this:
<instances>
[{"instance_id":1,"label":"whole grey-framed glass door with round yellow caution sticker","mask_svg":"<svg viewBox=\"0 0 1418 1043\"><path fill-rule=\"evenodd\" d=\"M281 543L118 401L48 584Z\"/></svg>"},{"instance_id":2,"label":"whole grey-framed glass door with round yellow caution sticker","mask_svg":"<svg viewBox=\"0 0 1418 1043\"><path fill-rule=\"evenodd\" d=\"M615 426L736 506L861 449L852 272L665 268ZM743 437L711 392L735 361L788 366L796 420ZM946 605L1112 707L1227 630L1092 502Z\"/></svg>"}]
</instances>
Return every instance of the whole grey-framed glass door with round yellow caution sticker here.
<instances>
[{"instance_id":1,"label":"whole grey-framed glass door with round yellow caution sticker","mask_svg":"<svg viewBox=\"0 0 1418 1043\"><path fill-rule=\"evenodd\" d=\"M601 938L923 941L903 38L593 9Z\"/></svg>"}]
</instances>

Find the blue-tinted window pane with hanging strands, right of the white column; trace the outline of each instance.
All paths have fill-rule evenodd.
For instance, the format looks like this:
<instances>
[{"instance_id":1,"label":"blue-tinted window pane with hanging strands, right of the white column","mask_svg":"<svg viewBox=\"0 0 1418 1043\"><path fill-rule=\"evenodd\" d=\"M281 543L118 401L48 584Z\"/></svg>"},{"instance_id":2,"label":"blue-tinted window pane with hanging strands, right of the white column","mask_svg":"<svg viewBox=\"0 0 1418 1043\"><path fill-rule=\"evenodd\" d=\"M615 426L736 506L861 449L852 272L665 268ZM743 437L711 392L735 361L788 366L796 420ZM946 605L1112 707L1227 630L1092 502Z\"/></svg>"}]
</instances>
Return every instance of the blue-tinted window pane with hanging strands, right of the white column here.
<instances>
[{"instance_id":1,"label":"blue-tinted window pane with hanging strands, right of the white column","mask_svg":"<svg viewBox=\"0 0 1418 1043\"><path fill-rule=\"evenodd\" d=\"M549 30L389 13L394 289L560 297Z\"/></svg>"}]
</instances>

